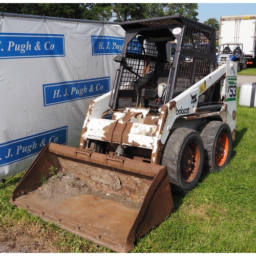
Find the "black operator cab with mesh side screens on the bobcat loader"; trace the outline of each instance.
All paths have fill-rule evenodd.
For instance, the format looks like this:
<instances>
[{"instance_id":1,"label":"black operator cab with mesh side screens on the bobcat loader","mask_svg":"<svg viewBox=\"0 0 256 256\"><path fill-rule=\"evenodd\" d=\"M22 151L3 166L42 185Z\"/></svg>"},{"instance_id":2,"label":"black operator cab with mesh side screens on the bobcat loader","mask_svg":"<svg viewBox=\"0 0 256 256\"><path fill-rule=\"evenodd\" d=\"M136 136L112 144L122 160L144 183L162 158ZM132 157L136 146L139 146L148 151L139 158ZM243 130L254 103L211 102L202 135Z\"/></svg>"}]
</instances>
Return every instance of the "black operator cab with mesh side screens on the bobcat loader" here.
<instances>
[{"instance_id":1,"label":"black operator cab with mesh side screens on the bobcat loader","mask_svg":"<svg viewBox=\"0 0 256 256\"><path fill-rule=\"evenodd\" d=\"M194 23L177 15L120 24L126 34L122 54L114 58L120 67L111 109L150 108L157 114L163 104L215 70L215 35ZM201 97L201 103L209 100L207 93Z\"/></svg>"}]
</instances>

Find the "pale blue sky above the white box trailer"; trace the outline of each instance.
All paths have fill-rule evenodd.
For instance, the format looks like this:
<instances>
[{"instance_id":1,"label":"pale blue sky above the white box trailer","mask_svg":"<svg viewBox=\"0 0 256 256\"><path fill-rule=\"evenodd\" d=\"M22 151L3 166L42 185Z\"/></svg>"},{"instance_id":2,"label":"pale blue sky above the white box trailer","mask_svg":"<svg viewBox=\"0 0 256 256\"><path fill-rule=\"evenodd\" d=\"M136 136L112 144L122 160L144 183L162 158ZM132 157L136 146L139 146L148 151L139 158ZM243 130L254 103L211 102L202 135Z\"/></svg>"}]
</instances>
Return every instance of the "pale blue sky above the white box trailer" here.
<instances>
[{"instance_id":1,"label":"pale blue sky above the white box trailer","mask_svg":"<svg viewBox=\"0 0 256 256\"><path fill-rule=\"evenodd\" d=\"M225 2L225 1L223 1ZM198 21L204 23L208 18L216 18L220 22L221 16L229 15L256 15L256 2L253 3L244 3L238 4L236 0L232 1L233 3L198 3L197 12L199 13L197 18ZM240 3L242 1L239 1ZM246 1L245 1L246 2Z\"/></svg>"}]
</instances>

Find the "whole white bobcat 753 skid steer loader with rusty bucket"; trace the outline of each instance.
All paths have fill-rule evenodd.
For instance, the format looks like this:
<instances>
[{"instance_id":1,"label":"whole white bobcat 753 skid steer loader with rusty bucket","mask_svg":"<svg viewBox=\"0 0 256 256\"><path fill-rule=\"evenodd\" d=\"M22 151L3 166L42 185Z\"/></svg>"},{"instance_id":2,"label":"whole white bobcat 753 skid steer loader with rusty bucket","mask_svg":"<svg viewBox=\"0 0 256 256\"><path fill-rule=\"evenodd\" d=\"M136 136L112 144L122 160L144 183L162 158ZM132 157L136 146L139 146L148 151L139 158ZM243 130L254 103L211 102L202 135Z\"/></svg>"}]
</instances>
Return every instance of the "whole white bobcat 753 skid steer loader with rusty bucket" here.
<instances>
[{"instance_id":1,"label":"whole white bobcat 753 skid steer loader with rusty bucket","mask_svg":"<svg viewBox=\"0 0 256 256\"><path fill-rule=\"evenodd\" d=\"M216 69L215 30L180 15L120 26L113 88L91 101L80 147L46 145L10 202L128 252L172 212L172 191L228 164L237 63Z\"/></svg>"}]
</instances>

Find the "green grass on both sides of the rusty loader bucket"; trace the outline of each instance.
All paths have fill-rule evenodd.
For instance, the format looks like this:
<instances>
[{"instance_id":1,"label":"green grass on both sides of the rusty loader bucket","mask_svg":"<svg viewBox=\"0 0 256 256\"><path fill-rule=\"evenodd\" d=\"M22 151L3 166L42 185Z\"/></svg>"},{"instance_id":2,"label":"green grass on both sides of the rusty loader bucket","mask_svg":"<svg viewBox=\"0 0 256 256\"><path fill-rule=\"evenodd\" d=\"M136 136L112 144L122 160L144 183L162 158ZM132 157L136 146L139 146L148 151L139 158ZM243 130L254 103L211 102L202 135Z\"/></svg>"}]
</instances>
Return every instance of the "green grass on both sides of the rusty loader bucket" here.
<instances>
[{"instance_id":1,"label":"green grass on both sides of the rusty loader bucket","mask_svg":"<svg viewBox=\"0 0 256 256\"><path fill-rule=\"evenodd\" d=\"M190 193L173 195L173 213L140 238L132 252L256 252L255 127L256 108L238 105L229 165L220 173L204 174ZM10 205L11 192L21 177L17 174L0 184L0 232L17 223L38 223L38 233L48 234L59 251L111 252Z\"/></svg>"}]
</instances>

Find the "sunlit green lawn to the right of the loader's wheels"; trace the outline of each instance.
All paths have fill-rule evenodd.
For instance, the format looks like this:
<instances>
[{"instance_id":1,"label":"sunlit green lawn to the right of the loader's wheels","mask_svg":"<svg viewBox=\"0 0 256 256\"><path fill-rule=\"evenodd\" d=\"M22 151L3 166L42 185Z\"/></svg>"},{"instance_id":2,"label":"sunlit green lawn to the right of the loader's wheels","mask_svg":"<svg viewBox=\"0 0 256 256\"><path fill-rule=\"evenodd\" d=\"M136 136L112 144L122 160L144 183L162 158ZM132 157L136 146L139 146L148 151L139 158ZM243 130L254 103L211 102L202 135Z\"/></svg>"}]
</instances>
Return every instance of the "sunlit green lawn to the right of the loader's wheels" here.
<instances>
[{"instance_id":1,"label":"sunlit green lawn to the right of the loader's wheels","mask_svg":"<svg viewBox=\"0 0 256 256\"><path fill-rule=\"evenodd\" d=\"M256 109L238 106L230 164L205 174L135 251L256 252Z\"/></svg>"}]
</instances>

